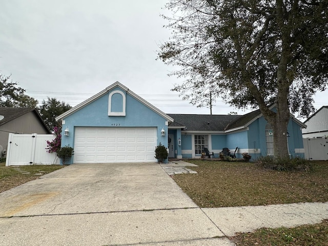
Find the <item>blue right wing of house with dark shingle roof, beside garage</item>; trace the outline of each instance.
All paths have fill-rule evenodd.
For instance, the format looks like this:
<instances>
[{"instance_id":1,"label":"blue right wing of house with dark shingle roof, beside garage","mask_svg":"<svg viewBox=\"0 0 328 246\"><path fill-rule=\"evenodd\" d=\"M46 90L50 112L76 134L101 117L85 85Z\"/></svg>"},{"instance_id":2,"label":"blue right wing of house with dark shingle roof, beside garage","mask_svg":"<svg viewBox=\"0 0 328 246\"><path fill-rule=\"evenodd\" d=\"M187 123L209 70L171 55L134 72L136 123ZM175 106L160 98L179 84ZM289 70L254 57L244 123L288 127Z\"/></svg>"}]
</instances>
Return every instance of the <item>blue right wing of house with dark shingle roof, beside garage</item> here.
<instances>
[{"instance_id":1,"label":"blue right wing of house with dark shingle roof, beside garage","mask_svg":"<svg viewBox=\"0 0 328 246\"><path fill-rule=\"evenodd\" d=\"M275 110L272 106L271 110ZM223 148L251 154L252 159L273 155L273 130L260 110L245 115L169 114L174 121L169 125L169 158L199 158L208 148L219 158ZM304 157L302 128L306 126L292 114L286 138L289 154Z\"/></svg>"}]
</instances>

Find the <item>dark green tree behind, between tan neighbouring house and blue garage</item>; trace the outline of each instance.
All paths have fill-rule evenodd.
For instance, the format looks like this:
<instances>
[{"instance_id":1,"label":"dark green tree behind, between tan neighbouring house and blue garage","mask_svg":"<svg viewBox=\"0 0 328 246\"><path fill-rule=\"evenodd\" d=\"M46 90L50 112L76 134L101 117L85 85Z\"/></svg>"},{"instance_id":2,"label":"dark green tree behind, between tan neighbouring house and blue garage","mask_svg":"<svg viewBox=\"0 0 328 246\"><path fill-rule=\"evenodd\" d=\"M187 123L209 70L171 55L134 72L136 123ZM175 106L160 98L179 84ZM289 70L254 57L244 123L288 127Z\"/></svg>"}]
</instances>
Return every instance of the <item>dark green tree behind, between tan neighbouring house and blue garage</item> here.
<instances>
[{"instance_id":1,"label":"dark green tree behind, between tan neighbouring house and blue garage","mask_svg":"<svg viewBox=\"0 0 328 246\"><path fill-rule=\"evenodd\" d=\"M47 101L42 101L42 105L40 105L38 109L40 116L43 118L49 129L54 129L55 127L61 129L61 122L57 122L55 118L71 108L72 106L66 104L64 101L48 97Z\"/></svg>"}]
</instances>

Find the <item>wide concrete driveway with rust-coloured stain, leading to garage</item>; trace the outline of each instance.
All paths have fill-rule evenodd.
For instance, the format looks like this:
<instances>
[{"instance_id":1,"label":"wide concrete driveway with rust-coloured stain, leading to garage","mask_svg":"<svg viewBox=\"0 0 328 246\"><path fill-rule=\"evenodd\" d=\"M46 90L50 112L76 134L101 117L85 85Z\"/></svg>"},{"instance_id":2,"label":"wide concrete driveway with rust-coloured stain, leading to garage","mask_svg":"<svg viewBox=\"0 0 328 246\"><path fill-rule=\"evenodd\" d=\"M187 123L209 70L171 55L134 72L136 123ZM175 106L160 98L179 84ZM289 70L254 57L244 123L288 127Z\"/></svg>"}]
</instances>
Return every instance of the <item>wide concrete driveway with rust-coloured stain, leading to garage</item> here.
<instances>
[{"instance_id":1,"label":"wide concrete driveway with rust-coloured stain, leading to garage","mask_svg":"<svg viewBox=\"0 0 328 246\"><path fill-rule=\"evenodd\" d=\"M0 193L0 236L0 245L233 245L157 163L70 165Z\"/></svg>"}]
</instances>

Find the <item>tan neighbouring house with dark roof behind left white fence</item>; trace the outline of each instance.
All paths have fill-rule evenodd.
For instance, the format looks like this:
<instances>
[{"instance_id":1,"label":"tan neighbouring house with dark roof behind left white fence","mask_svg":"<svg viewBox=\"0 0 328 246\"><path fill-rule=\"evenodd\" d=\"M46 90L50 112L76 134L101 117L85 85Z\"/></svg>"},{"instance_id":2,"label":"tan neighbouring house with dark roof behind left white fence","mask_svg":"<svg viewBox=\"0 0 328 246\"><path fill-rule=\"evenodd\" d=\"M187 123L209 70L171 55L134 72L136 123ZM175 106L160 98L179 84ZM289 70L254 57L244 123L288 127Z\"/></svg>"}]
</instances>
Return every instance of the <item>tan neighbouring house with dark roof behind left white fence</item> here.
<instances>
[{"instance_id":1,"label":"tan neighbouring house with dark roof behind left white fence","mask_svg":"<svg viewBox=\"0 0 328 246\"><path fill-rule=\"evenodd\" d=\"M3 116L3 117L2 117ZM51 134L34 108L0 108L0 151L7 150L9 133Z\"/></svg>"}]
</instances>

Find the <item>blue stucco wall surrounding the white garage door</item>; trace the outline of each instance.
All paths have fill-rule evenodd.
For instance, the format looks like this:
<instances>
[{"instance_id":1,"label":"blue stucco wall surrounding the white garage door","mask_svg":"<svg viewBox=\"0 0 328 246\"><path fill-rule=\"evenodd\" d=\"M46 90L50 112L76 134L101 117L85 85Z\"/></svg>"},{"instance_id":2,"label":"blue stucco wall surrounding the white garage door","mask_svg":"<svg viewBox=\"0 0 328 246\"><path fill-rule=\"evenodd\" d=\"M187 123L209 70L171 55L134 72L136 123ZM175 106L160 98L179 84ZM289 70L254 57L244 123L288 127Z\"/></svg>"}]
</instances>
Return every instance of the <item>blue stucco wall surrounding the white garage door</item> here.
<instances>
[{"instance_id":1,"label":"blue stucco wall surrounding the white garage door","mask_svg":"<svg viewBox=\"0 0 328 246\"><path fill-rule=\"evenodd\" d=\"M62 147L69 145L74 148L75 127L157 127L157 145L160 142L162 145L168 147L167 119L142 104L129 93L122 91L126 95L126 116L108 116L109 94L115 90L122 91L120 88L114 88L64 118L65 125L63 125L61 139ZM112 99L115 100L113 97ZM121 98L118 98L118 103L114 102L115 110L121 107L119 100ZM66 128L69 129L69 136L64 136ZM165 136L161 136L162 128L166 132Z\"/></svg>"}]
</instances>

